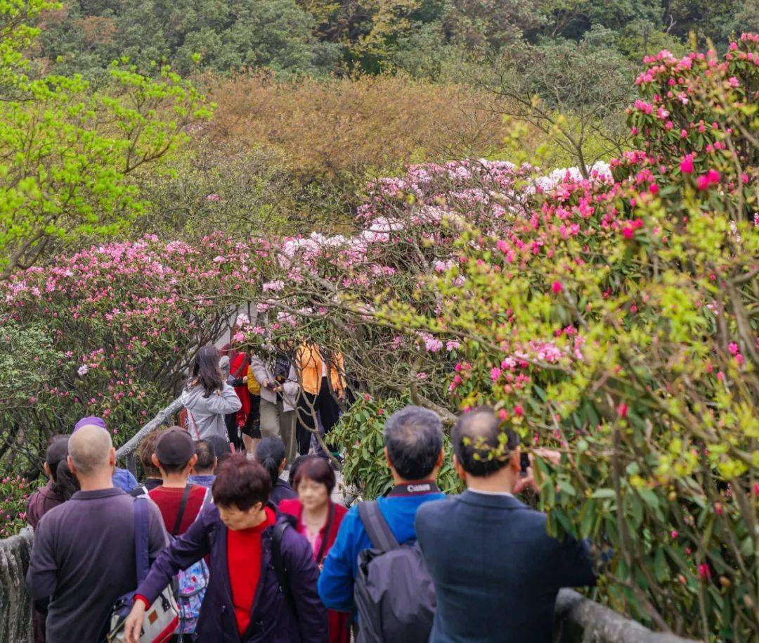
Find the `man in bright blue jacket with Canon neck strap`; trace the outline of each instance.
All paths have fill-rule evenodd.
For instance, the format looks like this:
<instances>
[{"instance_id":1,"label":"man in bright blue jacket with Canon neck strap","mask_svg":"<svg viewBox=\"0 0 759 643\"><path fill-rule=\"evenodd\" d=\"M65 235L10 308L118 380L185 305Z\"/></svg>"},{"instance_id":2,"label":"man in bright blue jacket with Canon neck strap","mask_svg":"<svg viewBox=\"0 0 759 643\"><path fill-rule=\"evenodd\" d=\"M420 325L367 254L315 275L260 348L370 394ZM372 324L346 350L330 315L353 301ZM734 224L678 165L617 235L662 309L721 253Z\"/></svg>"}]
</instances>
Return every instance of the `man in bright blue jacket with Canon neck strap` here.
<instances>
[{"instance_id":1,"label":"man in bright blue jacket with Canon neck strap","mask_svg":"<svg viewBox=\"0 0 759 643\"><path fill-rule=\"evenodd\" d=\"M446 497L435 483L442 467L440 418L431 410L414 406L393 413L385 426L385 456L395 486L377 503L395 540L407 543L416 539L417 509L430 500ZM326 607L343 612L352 609L358 553L372 546L354 505L342 519L319 576L319 595Z\"/></svg>"}]
</instances>

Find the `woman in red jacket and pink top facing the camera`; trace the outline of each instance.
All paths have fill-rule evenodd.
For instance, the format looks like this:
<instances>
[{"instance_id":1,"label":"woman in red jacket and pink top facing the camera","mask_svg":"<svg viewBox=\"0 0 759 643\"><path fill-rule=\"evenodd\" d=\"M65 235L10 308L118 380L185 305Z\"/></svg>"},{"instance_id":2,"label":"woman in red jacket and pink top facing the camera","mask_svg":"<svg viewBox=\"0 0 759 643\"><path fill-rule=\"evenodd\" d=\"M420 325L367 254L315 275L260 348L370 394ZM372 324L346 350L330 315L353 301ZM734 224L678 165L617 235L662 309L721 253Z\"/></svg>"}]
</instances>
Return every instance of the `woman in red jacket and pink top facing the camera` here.
<instances>
[{"instance_id":1,"label":"woman in red jacket and pink top facing the camera","mask_svg":"<svg viewBox=\"0 0 759 643\"><path fill-rule=\"evenodd\" d=\"M305 458L295 474L293 488L298 498L279 502L279 511L297 519L298 532L307 538L321 569L348 509L329 498L335 489L335 472L326 458ZM328 614L329 643L350 643L348 613L329 610Z\"/></svg>"}]
</instances>

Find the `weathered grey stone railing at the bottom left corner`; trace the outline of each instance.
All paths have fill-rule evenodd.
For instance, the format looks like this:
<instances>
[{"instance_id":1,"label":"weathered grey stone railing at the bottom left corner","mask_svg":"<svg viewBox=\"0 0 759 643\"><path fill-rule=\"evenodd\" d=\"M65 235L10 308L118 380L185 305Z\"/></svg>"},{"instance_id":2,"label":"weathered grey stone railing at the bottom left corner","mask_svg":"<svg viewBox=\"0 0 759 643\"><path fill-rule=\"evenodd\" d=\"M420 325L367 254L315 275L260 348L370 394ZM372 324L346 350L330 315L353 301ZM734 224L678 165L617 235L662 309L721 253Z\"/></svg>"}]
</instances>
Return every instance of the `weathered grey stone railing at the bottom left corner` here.
<instances>
[{"instance_id":1,"label":"weathered grey stone railing at the bottom left corner","mask_svg":"<svg viewBox=\"0 0 759 643\"><path fill-rule=\"evenodd\" d=\"M24 584L32 530L0 540L0 643L30 643L32 607Z\"/></svg>"}]
</instances>

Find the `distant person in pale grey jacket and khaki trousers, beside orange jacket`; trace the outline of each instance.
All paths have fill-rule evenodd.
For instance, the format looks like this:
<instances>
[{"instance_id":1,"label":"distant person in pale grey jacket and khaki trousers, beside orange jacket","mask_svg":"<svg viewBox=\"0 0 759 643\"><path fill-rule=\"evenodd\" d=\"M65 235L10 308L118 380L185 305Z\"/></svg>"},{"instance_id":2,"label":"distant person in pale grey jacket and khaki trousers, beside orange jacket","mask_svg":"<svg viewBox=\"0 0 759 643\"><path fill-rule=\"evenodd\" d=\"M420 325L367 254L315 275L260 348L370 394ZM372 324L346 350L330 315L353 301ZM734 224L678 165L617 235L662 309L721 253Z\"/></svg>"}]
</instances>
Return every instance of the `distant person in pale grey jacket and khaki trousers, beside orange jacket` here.
<instances>
[{"instance_id":1,"label":"distant person in pale grey jacket and khaki trousers, beside orange jacket","mask_svg":"<svg viewBox=\"0 0 759 643\"><path fill-rule=\"evenodd\" d=\"M277 382L273 372L275 363L276 361L266 363L257 355L250 357L250 369L261 385L261 435L281 438L285 443L285 457L288 462L292 462L297 447L295 413L298 412L298 393L301 387L292 363L287 378Z\"/></svg>"}]
</instances>

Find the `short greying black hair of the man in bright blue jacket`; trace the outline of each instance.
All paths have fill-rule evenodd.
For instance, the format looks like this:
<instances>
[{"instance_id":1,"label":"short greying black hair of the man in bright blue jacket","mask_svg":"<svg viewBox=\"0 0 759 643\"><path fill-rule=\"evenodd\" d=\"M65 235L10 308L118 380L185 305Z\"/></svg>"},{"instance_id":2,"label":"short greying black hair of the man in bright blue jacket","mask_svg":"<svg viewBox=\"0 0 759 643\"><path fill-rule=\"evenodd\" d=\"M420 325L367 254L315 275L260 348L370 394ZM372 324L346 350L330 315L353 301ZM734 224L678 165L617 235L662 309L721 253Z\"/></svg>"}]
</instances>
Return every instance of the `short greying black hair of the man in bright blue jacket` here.
<instances>
[{"instance_id":1,"label":"short greying black hair of the man in bright blue jacket","mask_svg":"<svg viewBox=\"0 0 759 643\"><path fill-rule=\"evenodd\" d=\"M385 424L385 446L400 477L427 479L442 449L442 424L438 414L414 406L395 411Z\"/></svg>"}]
</instances>

